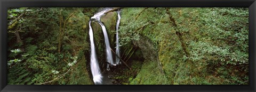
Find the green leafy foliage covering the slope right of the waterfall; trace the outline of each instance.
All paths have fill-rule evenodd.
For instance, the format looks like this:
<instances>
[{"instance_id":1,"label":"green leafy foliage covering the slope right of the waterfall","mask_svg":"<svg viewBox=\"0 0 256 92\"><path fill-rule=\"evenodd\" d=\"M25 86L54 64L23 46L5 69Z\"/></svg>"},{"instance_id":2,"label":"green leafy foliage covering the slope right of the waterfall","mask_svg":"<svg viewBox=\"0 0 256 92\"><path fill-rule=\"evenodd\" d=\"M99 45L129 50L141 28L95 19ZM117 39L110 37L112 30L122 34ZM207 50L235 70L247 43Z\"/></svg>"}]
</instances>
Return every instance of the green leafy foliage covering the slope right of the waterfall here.
<instances>
[{"instance_id":1,"label":"green leafy foliage covering the slope right of the waterfall","mask_svg":"<svg viewBox=\"0 0 256 92\"><path fill-rule=\"evenodd\" d=\"M124 8L121 44L141 36L153 42L170 84L248 83L248 8L169 8L169 12L177 27L165 8ZM182 34L190 56L176 32Z\"/></svg>"}]
</instances>

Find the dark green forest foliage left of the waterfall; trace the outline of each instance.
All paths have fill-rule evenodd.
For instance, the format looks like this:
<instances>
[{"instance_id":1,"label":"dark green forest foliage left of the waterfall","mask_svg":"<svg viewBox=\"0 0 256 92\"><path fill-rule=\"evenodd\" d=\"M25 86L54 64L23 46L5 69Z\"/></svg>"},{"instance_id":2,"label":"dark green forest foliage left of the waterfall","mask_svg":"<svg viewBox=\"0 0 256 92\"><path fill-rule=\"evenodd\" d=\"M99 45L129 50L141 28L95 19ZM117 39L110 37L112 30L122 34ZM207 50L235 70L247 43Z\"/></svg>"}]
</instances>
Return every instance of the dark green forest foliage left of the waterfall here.
<instances>
[{"instance_id":1,"label":"dark green forest foliage left of the waterfall","mask_svg":"<svg viewBox=\"0 0 256 92\"><path fill-rule=\"evenodd\" d=\"M71 84L74 83L73 81L78 81L70 76L70 72L74 71L71 68L77 67L85 67L83 71L75 69L74 72L79 72L79 75L83 75L83 79L86 79L86 81L80 79L78 84L92 84L86 65L76 65L79 61L86 62L84 58L79 60L79 57L84 54L73 57L79 51L89 50L88 34L85 32L89 17L82 13L83 9L61 8L64 18L74 11L77 13L70 17L70 21L67 21L63 53L58 53L60 8L10 8L8 10L9 24L18 16L22 21L18 21L19 26L14 26L15 29L13 28L9 33L9 50L12 51L9 52L8 84L44 84L51 80L53 81L46 84ZM21 28L19 31L21 43L16 43L16 35L11 33L18 31L18 28ZM23 48L24 51L20 52L20 49L16 48ZM61 77L64 73L65 76Z\"/></svg>"}]
</instances>

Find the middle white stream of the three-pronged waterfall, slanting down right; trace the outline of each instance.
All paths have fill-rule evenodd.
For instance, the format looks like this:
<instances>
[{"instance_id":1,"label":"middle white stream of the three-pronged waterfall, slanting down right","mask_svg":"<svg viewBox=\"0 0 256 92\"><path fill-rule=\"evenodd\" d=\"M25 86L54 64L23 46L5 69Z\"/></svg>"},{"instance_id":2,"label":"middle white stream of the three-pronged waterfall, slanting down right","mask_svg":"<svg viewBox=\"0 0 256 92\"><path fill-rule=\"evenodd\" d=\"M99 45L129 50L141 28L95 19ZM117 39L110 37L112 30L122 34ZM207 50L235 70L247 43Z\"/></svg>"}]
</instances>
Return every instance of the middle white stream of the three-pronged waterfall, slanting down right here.
<instances>
[{"instance_id":1,"label":"middle white stream of the three-pronged waterfall, slanting down right","mask_svg":"<svg viewBox=\"0 0 256 92\"><path fill-rule=\"evenodd\" d=\"M108 33L107 33L107 30L106 30L106 27L103 25L103 23L99 22L101 28L102 28L102 31L103 31L103 34L104 34L104 38L105 38L105 45L106 45L106 53L107 53L107 62L110 63L111 65L114 65L114 62L113 62L113 57L112 57L112 53L111 53L111 48L110 48L110 44L109 44L109 40L108 40ZM107 65L107 69L109 68L109 64Z\"/></svg>"}]
</instances>

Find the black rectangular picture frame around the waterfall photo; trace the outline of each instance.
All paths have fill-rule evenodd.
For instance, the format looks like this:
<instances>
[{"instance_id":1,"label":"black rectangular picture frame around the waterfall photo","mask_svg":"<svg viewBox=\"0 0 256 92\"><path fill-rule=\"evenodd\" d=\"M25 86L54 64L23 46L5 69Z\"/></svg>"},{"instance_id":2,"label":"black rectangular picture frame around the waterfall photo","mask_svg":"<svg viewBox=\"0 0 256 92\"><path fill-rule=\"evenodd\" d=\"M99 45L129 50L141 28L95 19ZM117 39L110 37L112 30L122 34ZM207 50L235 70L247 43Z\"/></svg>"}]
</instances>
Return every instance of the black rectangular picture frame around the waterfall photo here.
<instances>
[{"instance_id":1,"label":"black rectangular picture frame around the waterfall photo","mask_svg":"<svg viewBox=\"0 0 256 92\"><path fill-rule=\"evenodd\" d=\"M255 0L1 0L0 91L255 91ZM249 7L249 85L7 85L8 7Z\"/></svg>"}]
</instances>

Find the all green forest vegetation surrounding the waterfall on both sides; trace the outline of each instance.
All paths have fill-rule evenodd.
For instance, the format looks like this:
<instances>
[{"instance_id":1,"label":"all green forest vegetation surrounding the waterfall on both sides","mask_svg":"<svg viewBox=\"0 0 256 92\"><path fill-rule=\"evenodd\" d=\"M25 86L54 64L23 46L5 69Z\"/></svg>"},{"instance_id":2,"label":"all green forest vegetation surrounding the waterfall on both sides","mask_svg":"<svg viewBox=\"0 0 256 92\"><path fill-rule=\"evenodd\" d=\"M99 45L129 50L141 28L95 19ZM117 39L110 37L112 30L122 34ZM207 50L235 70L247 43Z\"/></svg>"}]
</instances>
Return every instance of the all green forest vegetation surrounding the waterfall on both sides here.
<instances>
[{"instance_id":1,"label":"all green forest vegetation surrounding the waterfall on both sides","mask_svg":"<svg viewBox=\"0 0 256 92\"><path fill-rule=\"evenodd\" d=\"M89 21L103 9L9 8L8 84L93 85ZM91 23L102 84L249 84L248 8L114 9L100 19L113 50L117 11L123 63L109 71L102 28Z\"/></svg>"}]
</instances>

